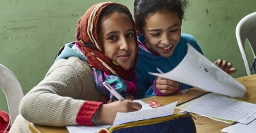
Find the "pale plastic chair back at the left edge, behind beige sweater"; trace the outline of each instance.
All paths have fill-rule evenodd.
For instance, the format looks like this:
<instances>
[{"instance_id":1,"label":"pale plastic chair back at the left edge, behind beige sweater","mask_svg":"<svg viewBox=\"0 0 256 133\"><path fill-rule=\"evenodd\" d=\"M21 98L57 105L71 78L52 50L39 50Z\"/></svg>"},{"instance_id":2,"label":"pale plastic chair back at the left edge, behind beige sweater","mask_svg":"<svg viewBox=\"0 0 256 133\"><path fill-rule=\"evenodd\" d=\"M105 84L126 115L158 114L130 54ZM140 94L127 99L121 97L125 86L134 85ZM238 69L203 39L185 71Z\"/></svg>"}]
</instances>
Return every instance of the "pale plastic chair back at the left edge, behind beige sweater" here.
<instances>
[{"instance_id":1,"label":"pale plastic chair back at the left edge, behind beige sweater","mask_svg":"<svg viewBox=\"0 0 256 133\"><path fill-rule=\"evenodd\" d=\"M18 78L8 68L0 64L0 88L3 89L8 104L11 125L19 114L20 101L24 96Z\"/></svg>"}]
</instances>

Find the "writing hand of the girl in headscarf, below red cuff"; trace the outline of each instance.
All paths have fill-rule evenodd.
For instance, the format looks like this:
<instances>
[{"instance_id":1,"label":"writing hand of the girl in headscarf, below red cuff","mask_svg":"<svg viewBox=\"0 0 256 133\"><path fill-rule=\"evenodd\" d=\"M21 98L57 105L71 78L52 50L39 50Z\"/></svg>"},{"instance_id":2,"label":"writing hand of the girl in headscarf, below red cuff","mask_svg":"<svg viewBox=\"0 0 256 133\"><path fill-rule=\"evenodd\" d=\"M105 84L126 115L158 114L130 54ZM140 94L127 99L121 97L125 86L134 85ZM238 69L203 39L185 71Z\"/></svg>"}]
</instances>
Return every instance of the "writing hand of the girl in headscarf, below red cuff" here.
<instances>
[{"instance_id":1,"label":"writing hand of the girl in headscarf, below red cuff","mask_svg":"<svg viewBox=\"0 0 256 133\"><path fill-rule=\"evenodd\" d=\"M132 100L116 101L109 104L103 104L96 114L96 123L113 125L117 112L127 113L137 111L142 108L138 102Z\"/></svg>"}]
</instances>

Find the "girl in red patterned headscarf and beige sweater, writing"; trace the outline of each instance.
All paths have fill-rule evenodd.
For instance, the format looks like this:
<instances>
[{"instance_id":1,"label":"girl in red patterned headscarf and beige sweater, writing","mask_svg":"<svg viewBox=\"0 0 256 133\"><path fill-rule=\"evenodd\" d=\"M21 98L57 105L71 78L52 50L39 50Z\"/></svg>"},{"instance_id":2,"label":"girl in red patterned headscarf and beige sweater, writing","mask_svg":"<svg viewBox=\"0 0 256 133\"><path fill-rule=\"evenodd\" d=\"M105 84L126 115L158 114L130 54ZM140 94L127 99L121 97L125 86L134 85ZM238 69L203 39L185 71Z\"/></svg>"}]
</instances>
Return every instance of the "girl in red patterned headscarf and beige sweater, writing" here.
<instances>
[{"instance_id":1,"label":"girl in red patterned headscarf and beige sweater, writing","mask_svg":"<svg viewBox=\"0 0 256 133\"><path fill-rule=\"evenodd\" d=\"M111 125L117 112L141 109L132 100L113 102L116 98L102 86L106 81L125 98L134 95L137 49L128 8L112 2L92 6L77 24L76 44L65 46L44 80L20 102L21 115L10 131L29 132L28 121L53 126ZM104 104L102 95L111 103Z\"/></svg>"}]
</instances>

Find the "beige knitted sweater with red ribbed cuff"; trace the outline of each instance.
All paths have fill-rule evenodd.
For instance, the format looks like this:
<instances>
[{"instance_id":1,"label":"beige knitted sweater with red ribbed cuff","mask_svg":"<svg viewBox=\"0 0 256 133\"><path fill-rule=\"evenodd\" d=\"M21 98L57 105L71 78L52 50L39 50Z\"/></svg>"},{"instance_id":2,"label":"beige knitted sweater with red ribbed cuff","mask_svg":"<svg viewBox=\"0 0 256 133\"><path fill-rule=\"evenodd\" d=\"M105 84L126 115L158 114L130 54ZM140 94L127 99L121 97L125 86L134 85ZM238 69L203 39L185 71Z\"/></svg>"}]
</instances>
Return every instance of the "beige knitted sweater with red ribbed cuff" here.
<instances>
[{"instance_id":1,"label":"beige knitted sweater with red ribbed cuff","mask_svg":"<svg viewBox=\"0 0 256 133\"><path fill-rule=\"evenodd\" d=\"M59 59L44 80L24 96L20 102L22 117L16 118L10 132L27 132L27 121L55 126L94 125L92 118L102 105L96 102L99 100L88 63L78 57Z\"/></svg>"}]
</instances>

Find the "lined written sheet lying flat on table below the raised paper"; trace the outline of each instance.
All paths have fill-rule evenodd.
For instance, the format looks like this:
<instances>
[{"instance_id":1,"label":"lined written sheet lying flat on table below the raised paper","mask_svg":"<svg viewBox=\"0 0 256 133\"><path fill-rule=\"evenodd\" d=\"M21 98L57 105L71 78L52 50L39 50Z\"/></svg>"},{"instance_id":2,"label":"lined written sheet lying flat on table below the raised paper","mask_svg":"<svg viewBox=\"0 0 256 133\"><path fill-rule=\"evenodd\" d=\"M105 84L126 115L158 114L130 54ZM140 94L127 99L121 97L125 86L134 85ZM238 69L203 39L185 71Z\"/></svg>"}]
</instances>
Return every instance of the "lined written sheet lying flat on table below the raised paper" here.
<instances>
[{"instance_id":1,"label":"lined written sheet lying flat on table below the raised paper","mask_svg":"<svg viewBox=\"0 0 256 133\"><path fill-rule=\"evenodd\" d=\"M256 118L256 104L233 100L217 93L203 95L182 110L245 124Z\"/></svg>"}]
</instances>

